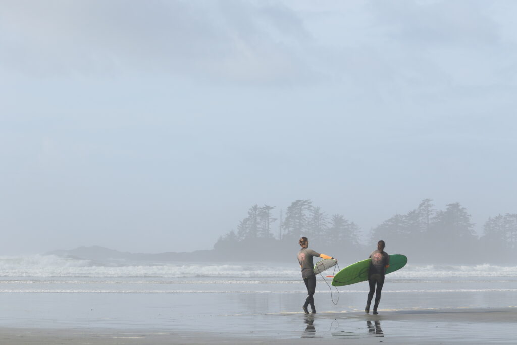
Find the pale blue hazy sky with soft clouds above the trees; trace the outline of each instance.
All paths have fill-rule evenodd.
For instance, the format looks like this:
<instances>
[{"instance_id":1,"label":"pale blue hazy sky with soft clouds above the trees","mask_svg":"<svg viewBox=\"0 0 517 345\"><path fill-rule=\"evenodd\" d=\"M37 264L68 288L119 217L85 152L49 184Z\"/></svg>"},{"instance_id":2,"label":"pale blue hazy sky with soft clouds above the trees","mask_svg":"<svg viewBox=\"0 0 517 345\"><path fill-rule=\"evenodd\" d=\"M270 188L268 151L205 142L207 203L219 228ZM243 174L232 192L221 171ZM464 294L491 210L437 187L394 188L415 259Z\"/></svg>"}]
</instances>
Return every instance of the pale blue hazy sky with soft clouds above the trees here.
<instances>
[{"instance_id":1,"label":"pale blue hazy sky with soft clouds above the trees","mask_svg":"<svg viewBox=\"0 0 517 345\"><path fill-rule=\"evenodd\" d=\"M0 2L0 254L517 212L517 3ZM273 226L278 228L278 223Z\"/></svg>"}]
</instances>

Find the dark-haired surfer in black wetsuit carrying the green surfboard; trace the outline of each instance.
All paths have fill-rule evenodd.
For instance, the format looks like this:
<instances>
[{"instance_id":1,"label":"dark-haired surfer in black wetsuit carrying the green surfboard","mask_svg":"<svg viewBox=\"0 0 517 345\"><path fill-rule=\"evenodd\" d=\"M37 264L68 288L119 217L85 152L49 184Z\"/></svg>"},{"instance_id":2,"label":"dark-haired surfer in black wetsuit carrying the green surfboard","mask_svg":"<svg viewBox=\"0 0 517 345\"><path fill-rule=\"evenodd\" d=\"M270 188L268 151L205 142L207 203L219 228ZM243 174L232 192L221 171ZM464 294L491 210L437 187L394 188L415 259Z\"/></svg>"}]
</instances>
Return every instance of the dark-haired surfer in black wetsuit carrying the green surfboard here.
<instances>
[{"instance_id":1,"label":"dark-haired surfer in black wetsuit carrying the green surfboard","mask_svg":"<svg viewBox=\"0 0 517 345\"><path fill-rule=\"evenodd\" d=\"M374 292L375 303L373 305L373 313L375 315L378 314L377 306L379 305L379 301L381 301L381 292L384 285L384 272L385 269L389 267L389 255L384 251L384 247L384 241L379 241L377 243L377 249L372 251L369 256L369 258L372 259L370 262L370 269L368 271L368 283L370 284L370 292L368 293L368 301L366 302L366 307L364 308L364 312L367 314L370 312L370 303L372 303ZM377 289L375 289L375 284L377 284Z\"/></svg>"}]
</instances>

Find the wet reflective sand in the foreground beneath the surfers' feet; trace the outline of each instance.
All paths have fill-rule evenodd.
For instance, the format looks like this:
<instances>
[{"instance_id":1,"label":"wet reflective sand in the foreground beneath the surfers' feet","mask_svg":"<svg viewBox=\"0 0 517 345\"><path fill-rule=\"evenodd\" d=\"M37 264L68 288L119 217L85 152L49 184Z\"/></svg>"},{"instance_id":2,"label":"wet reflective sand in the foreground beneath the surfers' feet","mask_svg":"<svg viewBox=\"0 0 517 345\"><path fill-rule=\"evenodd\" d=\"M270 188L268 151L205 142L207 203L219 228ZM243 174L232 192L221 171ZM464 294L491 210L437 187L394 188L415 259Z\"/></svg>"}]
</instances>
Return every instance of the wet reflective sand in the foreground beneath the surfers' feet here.
<instances>
[{"instance_id":1,"label":"wet reflective sand in the foreground beneath the surfers' feet","mask_svg":"<svg viewBox=\"0 0 517 345\"><path fill-rule=\"evenodd\" d=\"M222 317L223 318L223 317ZM517 308L457 308L361 312L257 314L253 320L279 318L285 328L224 332L164 328L19 328L0 327L6 344L348 344L514 343ZM285 322L287 321L288 322ZM292 325L299 325L293 327ZM252 328L252 325L249 325ZM248 327L247 327L248 328ZM249 329L249 328L248 328Z\"/></svg>"}]
</instances>

